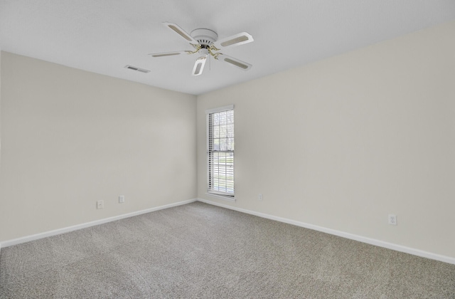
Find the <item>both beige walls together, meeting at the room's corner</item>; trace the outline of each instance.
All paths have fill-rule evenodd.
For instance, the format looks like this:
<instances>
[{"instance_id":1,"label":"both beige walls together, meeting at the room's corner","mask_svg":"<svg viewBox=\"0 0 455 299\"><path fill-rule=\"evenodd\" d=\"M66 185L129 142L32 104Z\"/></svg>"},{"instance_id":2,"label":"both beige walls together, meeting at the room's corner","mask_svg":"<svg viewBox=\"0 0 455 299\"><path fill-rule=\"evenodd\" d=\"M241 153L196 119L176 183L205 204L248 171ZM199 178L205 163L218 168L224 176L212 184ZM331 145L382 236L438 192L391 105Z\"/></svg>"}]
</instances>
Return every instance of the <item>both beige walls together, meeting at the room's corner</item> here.
<instances>
[{"instance_id":1,"label":"both beige walls together, meeting at the room's corner","mask_svg":"<svg viewBox=\"0 0 455 299\"><path fill-rule=\"evenodd\" d=\"M0 242L198 196L455 257L454 34L198 96L197 165L195 96L1 52ZM235 203L205 194L205 109L229 104Z\"/></svg>"}]
</instances>

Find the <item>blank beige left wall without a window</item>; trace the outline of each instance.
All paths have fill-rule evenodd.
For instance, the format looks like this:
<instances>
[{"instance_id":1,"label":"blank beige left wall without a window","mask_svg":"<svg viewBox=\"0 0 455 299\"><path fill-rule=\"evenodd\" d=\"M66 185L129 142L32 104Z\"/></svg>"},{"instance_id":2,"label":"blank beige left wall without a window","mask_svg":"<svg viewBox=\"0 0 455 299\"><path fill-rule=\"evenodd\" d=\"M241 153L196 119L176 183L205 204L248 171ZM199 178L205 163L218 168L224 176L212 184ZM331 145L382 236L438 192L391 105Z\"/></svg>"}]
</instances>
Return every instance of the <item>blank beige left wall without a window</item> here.
<instances>
[{"instance_id":1,"label":"blank beige left wall without a window","mask_svg":"<svg viewBox=\"0 0 455 299\"><path fill-rule=\"evenodd\" d=\"M196 197L196 96L5 52L1 86L0 242Z\"/></svg>"}]
</instances>

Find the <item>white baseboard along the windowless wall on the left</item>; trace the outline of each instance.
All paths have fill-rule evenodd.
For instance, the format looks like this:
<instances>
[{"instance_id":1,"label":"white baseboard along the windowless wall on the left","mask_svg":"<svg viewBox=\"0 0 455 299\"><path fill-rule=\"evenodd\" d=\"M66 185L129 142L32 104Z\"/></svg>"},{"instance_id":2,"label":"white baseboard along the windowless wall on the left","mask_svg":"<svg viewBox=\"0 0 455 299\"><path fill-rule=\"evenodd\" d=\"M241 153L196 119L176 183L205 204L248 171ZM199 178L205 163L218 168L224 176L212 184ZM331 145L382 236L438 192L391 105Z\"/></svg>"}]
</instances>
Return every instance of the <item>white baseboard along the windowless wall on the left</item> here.
<instances>
[{"instance_id":1,"label":"white baseboard along the windowless wall on the left","mask_svg":"<svg viewBox=\"0 0 455 299\"><path fill-rule=\"evenodd\" d=\"M173 204L166 204L164 206L156 206L155 208L145 209L145 210L141 210L141 211L135 211L135 212L132 212L132 213L122 214L122 215L119 215L119 216L113 216L113 217L109 217L109 218L105 218L105 219L95 220L95 221L87 222L85 224L77 224L77 225L74 225L74 226L68 226L68 227L65 227L63 229L55 229L53 231L45 231L44 233L41 233L41 234L35 234L35 235L31 235L31 236L24 236L22 238L15 238L13 240L1 242L0 243L0 248L13 246L13 245L20 244L20 243L26 243L28 241L38 240L40 238L46 238L48 236L55 236L55 235L59 235L59 234L64 234L64 233L68 233L70 231L77 231L77 229L85 229L86 227L95 226L95 225L99 225L99 224L105 224L107 222L116 221L116 220L120 220L120 219L125 219L125 218L129 218L129 217L132 217L132 216L138 216L138 215L141 215L141 214L150 213L152 211L159 211L159 210L162 210L162 209L168 209L168 208L171 208L173 206L181 206L182 204L190 204L191 202L194 202L194 201L197 201L197 199L189 199L189 200L186 200L186 201L178 201L178 202L173 203Z\"/></svg>"}]
</instances>

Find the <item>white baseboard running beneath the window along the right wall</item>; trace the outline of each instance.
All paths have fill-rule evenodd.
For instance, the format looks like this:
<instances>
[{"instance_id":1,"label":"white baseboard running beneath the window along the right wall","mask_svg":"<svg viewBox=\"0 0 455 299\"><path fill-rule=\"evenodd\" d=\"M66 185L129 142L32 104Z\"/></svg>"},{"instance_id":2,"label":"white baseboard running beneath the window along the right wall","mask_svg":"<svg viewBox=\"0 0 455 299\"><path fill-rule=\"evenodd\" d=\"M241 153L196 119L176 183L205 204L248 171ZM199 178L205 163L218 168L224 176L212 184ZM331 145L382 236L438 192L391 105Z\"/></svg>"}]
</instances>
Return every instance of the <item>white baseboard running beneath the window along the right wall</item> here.
<instances>
[{"instance_id":1,"label":"white baseboard running beneath the window along the right wall","mask_svg":"<svg viewBox=\"0 0 455 299\"><path fill-rule=\"evenodd\" d=\"M410 253L410 254L412 254L414 256L422 256L423 258L431 258L431 259L436 260L436 261L442 261L444 263L451 263L451 264L455 265L455 258L451 258L450 256L441 256L441 255L436 254L436 253L431 253L431 252L422 251L422 250L419 250L419 249L410 248L410 247L407 247L407 246L402 246L402 245L397 245L397 244L394 244L394 243L380 241L380 240L377 240L375 238L367 238L367 237L364 237L364 236L358 236L358 235L355 235L355 234L349 234L349 233L346 233L344 231L337 231L335 229L327 229L327 228L325 228L323 226L316 226L316 225L313 225L313 224L306 224L306 223L300 222L300 221L295 221L295 220L286 219L286 218L282 218L282 217L278 217L278 216L273 216L273 215L269 215L269 214L259 213L259 212L256 212L256 211L250 211L250 210L247 210L247 209L241 209L241 208L237 208L235 206L228 206L227 204L218 204L218 202L209 201L207 199L197 199L197 200L201 201L201 202L204 202L205 204L212 204L214 206L220 206L220 207L223 207L223 208L226 208L226 209L240 211L242 213L251 214L251 215L255 215L255 216L259 216L259 217L262 217L262 218L271 219L271 220L275 220L275 221L280 221L280 222L284 222L286 224L293 224L295 226L301 226L301 227L304 227L306 229L313 229L314 231L321 231L321 232L326 233L326 234L331 234L331 235L335 235L335 236L341 236L343 238L349 238L351 240L360 241L360 242L363 242L363 243L368 243L368 244L371 244L371 245L380 246L380 247L392 249L392 250L395 250L395 251L401 251L401 252L404 252L404 253Z\"/></svg>"}]
</instances>

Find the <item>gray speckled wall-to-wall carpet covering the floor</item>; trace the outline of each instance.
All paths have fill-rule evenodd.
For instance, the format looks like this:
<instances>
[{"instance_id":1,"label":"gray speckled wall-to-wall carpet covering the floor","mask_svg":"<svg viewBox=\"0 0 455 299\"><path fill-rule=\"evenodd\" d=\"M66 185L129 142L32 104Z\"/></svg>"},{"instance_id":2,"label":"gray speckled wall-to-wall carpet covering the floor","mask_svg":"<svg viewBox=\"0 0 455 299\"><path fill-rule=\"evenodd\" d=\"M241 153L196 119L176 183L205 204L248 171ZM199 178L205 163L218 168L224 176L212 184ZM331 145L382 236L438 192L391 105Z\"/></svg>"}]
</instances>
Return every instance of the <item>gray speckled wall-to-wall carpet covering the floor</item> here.
<instances>
[{"instance_id":1,"label":"gray speckled wall-to-wall carpet covering the floor","mask_svg":"<svg viewBox=\"0 0 455 299\"><path fill-rule=\"evenodd\" d=\"M0 298L455 298L455 265L200 202L1 249Z\"/></svg>"}]
</instances>

